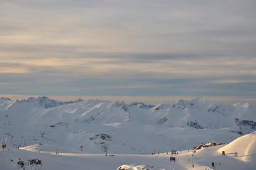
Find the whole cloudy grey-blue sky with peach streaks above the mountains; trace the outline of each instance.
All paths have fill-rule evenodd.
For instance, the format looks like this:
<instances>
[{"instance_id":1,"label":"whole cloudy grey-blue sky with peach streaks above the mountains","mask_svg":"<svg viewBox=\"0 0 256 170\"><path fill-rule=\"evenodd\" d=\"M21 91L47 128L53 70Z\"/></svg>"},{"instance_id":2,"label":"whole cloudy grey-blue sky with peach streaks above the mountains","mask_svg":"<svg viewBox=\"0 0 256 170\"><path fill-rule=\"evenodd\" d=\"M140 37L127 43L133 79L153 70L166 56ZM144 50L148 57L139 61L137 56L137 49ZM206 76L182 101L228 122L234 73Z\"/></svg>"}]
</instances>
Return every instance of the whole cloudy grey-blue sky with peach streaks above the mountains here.
<instances>
[{"instance_id":1,"label":"whole cloudy grey-blue sky with peach streaks above the mountains","mask_svg":"<svg viewBox=\"0 0 256 170\"><path fill-rule=\"evenodd\" d=\"M0 0L0 96L256 104L255 8L255 0Z\"/></svg>"}]
</instances>

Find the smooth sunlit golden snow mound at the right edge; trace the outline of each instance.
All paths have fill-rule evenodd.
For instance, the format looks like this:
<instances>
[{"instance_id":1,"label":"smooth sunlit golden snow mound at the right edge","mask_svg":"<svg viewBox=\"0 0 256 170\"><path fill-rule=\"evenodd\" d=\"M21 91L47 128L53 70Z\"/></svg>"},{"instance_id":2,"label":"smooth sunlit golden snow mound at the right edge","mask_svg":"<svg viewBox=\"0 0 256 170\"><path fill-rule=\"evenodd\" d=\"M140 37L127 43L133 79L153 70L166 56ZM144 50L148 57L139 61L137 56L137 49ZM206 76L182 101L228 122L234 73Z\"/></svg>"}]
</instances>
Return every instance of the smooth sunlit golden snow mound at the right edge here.
<instances>
[{"instance_id":1,"label":"smooth sunlit golden snow mound at the right edge","mask_svg":"<svg viewBox=\"0 0 256 170\"><path fill-rule=\"evenodd\" d=\"M222 151L225 151L225 154L231 157L234 157L235 152L237 152L237 159L244 162L256 163L256 131L239 137L225 147L218 149L218 152Z\"/></svg>"}]
</instances>

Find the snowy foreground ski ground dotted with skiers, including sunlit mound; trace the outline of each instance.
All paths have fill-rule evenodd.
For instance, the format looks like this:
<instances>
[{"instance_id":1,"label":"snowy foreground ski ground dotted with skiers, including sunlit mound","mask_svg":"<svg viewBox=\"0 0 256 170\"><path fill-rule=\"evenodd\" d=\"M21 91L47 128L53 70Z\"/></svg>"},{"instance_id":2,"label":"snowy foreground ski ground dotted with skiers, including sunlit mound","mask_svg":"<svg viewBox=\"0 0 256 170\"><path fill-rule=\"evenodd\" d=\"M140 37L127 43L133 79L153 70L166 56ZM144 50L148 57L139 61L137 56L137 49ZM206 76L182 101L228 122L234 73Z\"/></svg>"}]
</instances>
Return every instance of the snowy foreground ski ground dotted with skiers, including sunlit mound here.
<instances>
[{"instance_id":1,"label":"snowy foreground ski ground dotted with skiers, including sunlit mound","mask_svg":"<svg viewBox=\"0 0 256 170\"><path fill-rule=\"evenodd\" d=\"M215 169L220 170L255 170L256 152L255 152L255 134L245 135L231 142L225 147L207 147L204 149L178 151L177 155L171 156L170 152L159 154L79 154L70 153L70 149L61 148L63 151L56 155L55 152L31 152L23 149L7 147L0 152L0 169L15 170L15 169L37 169L37 170L188 170L188 169L211 169L210 166L214 162ZM242 146L244 145L244 146ZM250 146L251 145L251 146ZM36 146L31 147L31 149ZM46 149L54 149L58 146L43 146ZM41 147L41 148L43 148ZM28 149L28 147L26 148ZM230 152L237 151L241 154L247 153L244 156L246 161L241 161L227 155L222 155L220 151L224 150L229 155ZM250 153L250 154L248 154ZM240 155L240 154L239 154ZM171 161L170 157L175 157L176 162ZM243 157L241 157L243 159ZM250 158L250 159L249 159ZM32 162L32 161L33 162ZM250 160L250 161L249 161ZM32 163L31 163L32 162ZM40 162L40 164L36 163Z\"/></svg>"}]
</instances>

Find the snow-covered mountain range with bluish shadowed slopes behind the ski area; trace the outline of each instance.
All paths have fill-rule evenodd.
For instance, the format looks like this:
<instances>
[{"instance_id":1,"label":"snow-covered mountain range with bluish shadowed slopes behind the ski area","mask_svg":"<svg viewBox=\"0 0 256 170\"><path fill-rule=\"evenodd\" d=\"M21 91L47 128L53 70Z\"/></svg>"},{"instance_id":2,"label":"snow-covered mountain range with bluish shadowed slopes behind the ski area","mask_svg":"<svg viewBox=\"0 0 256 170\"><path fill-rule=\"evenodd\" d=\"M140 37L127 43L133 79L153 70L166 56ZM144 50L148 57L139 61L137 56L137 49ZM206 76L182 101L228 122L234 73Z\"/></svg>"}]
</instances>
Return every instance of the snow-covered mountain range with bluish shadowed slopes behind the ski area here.
<instances>
[{"instance_id":1,"label":"snow-covered mountain range with bluish shadowed slopes behind the ski area","mask_svg":"<svg viewBox=\"0 0 256 170\"><path fill-rule=\"evenodd\" d=\"M123 101L0 98L0 140L13 147L58 145L86 153L147 154L228 143L256 129L256 107L217 105L204 98L146 106Z\"/></svg>"}]
</instances>

